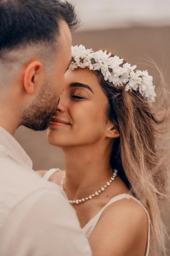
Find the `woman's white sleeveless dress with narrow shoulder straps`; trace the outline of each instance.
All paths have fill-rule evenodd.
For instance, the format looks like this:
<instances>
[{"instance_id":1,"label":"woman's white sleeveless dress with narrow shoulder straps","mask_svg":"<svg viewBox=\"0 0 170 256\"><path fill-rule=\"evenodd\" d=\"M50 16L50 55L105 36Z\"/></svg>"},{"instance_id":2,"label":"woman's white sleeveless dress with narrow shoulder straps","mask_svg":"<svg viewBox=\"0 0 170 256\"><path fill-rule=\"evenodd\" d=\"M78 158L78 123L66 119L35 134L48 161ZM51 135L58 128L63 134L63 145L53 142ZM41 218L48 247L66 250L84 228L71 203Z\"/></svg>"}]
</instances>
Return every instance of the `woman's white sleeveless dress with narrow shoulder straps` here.
<instances>
[{"instance_id":1,"label":"woman's white sleeveless dress with narrow shoulder straps","mask_svg":"<svg viewBox=\"0 0 170 256\"><path fill-rule=\"evenodd\" d=\"M49 171L46 172L46 174L43 176L43 179L45 180L49 180L50 177L55 173L55 172L58 172L58 171L61 171L60 169L50 169ZM142 205L141 201L139 201L138 199L136 199L134 196L131 196L129 194L121 194L121 195L118 195L118 196L115 196L113 197L101 210L99 213L97 213L83 228L84 232L85 232L85 235L86 235L86 238L89 239L91 234L92 234L92 231L93 229L95 228L97 222L99 221L103 211L105 210L105 208L120 200L120 199L134 199L138 204L140 204L143 209L145 210L145 212L147 213L147 216L148 216L148 238L147 238L147 249L146 249L146 253L145 253L145 256L148 256L149 255L149 240L150 240L150 218L149 218L149 213L148 211L146 210L146 208Z\"/></svg>"}]
</instances>

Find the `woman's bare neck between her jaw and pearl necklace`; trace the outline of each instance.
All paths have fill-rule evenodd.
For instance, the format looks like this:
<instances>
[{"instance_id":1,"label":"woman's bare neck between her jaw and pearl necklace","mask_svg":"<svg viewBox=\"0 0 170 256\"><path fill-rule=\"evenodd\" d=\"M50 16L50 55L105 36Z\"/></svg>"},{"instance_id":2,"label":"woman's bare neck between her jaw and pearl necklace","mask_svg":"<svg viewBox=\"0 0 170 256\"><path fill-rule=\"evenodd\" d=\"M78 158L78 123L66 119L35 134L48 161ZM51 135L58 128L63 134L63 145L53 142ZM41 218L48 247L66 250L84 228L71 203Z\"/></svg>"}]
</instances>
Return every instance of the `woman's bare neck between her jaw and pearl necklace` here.
<instances>
[{"instance_id":1,"label":"woman's bare neck between her jaw and pearl necklace","mask_svg":"<svg viewBox=\"0 0 170 256\"><path fill-rule=\"evenodd\" d=\"M64 191L69 200L91 195L112 176L111 146L86 145L63 149L66 177Z\"/></svg>"}]
</instances>

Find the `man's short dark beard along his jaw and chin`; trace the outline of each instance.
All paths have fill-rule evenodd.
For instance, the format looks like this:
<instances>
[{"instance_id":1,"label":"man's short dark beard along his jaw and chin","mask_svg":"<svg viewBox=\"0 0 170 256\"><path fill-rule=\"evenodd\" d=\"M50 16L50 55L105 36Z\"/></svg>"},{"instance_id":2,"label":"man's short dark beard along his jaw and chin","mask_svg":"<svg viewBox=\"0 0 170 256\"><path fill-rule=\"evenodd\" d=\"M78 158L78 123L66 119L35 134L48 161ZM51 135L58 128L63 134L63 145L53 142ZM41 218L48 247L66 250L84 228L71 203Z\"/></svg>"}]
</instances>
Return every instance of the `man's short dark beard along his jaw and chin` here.
<instances>
[{"instance_id":1,"label":"man's short dark beard along his jaw and chin","mask_svg":"<svg viewBox=\"0 0 170 256\"><path fill-rule=\"evenodd\" d=\"M44 83L35 101L24 110L20 125L35 131L46 130L55 115L58 103L59 100L50 82Z\"/></svg>"}]
</instances>

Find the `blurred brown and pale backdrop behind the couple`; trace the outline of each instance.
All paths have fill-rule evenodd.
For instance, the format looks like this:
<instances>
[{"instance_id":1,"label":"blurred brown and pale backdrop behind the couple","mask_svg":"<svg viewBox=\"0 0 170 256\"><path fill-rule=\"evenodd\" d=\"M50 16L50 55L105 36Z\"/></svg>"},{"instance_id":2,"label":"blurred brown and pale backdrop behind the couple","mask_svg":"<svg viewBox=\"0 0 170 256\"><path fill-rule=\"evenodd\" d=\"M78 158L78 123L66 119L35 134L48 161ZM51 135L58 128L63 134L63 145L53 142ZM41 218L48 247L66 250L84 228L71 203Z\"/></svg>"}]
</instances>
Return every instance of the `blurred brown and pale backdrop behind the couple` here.
<instances>
[{"instance_id":1,"label":"blurred brown and pale backdrop behind the couple","mask_svg":"<svg viewBox=\"0 0 170 256\"><path fill-rule=\"evenodd\" d=\"M170 0L69 2L76 6L81 20L81 26L72 34L73 45L83 44L94 50L110 49L131 65L136 64L137 69L147 69L159 88L159 74L147 61L151 58L170 84ZM20 127L15 138L33 160L33 169L64 169L62 151L47 143L46 131Z\"/></svg>"}]
</instances>

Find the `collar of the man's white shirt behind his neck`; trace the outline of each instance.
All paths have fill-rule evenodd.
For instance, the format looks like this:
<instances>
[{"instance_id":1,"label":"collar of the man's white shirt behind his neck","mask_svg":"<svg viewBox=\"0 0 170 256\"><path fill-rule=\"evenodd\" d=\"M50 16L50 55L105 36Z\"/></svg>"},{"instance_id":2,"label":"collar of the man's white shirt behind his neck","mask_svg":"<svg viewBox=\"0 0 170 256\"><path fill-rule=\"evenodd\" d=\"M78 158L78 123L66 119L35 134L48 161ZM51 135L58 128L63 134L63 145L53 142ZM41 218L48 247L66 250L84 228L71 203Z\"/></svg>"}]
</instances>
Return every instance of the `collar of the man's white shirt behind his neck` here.
<instances>
[{"instance_id":1,"label":"collar of the man's white shirt behind his neck","mask_svg":"<svg viewBox=\"0 0 170 256\"><path fill-rule=\"evenodd\" d=\"M26 154L21 145L15 140L15 138L0 126L0 145L3 147L8 155L14 158L17 162L27 165L31 169L33 168L33 162ZM0 148L0 150L1 150Z\"/></svg>"}]
</instances>

